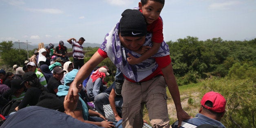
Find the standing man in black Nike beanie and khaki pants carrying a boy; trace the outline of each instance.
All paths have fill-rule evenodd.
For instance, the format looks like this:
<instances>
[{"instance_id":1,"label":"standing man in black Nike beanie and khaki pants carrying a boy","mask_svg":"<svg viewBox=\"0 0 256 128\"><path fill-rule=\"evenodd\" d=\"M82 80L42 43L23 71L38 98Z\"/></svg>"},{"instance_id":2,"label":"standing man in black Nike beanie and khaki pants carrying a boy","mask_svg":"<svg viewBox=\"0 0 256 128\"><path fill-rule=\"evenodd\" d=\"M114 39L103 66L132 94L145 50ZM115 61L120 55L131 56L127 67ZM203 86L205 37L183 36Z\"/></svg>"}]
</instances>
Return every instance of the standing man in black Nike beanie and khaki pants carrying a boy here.
<instances>
[{"instance_id":1,"label":"standing man in black Nike beanie and khaki pants carrying a boy","mask_svg":"<svg viewBox=\"0 0 256 128\"><path fill-rule=\"evenodd\" d=\"M161 49L143 63L128 64L127 53L140 56L137 51L141 46L152 43L152 34L147 34L146 22L141 12L127 9L122 13L120 23L108 33L102 46L82 66L70 89L74 96L82 89L81 83L93 68L106 57L124 74L122 87L124 128L143 126L143 106L148 108L150 124L153 127L170 127L167 108L166 84L174 100L179 122L190 116L182 109L179 88L177 86L170 59L168 45L161 43ZM164 77L163 77L164 76ZM77 101L78 99L75 99ZM160 109L161 108L161 109Z\"/></svg>"}]
</instances>

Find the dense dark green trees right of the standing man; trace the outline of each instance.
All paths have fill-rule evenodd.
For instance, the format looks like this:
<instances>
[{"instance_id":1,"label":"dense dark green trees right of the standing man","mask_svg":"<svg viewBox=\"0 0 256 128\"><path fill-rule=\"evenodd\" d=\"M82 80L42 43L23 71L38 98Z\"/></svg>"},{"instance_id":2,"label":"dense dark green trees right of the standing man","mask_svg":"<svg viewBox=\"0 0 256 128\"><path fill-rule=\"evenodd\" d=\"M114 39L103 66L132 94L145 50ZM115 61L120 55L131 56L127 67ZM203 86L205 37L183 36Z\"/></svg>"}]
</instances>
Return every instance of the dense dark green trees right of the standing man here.
<instances>
[{"instance_id":1,"label":"dense dark green trees right of the standing man","mask_svg":"<svg viewBox=\"0 0 256 128\"><path fill-rule=\"evenodd\" d=\"M223 41L221 38L199 41L196 37L167 42L174 74L179 85L198 79L225 77L235 63L256 67L256 39Z\"/></svg>"}]
</instances>

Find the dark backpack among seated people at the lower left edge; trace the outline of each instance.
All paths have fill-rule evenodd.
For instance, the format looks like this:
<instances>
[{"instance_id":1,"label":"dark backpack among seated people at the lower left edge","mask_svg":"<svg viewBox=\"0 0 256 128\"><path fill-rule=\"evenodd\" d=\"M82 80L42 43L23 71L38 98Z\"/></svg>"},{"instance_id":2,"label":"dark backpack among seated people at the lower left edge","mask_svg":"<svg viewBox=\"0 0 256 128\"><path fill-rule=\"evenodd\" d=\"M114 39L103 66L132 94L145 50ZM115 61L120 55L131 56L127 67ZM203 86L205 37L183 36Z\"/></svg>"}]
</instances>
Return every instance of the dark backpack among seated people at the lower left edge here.
<instances>
[{"instance_id":1,"label":"dark backpack among seated people at the lower left edge","mask_svg":"<svg viewBox=\"0 0 256 128\"><path fill-rule=\"evenodd\" d=\"M15 108L17 106L19 106L19 104L21 103L21 100L11 100L8 104L6 104L2 110L1 110L1 115L3 116L7 116L12 112L15 112Z\"/></svg>"}]
</instances>

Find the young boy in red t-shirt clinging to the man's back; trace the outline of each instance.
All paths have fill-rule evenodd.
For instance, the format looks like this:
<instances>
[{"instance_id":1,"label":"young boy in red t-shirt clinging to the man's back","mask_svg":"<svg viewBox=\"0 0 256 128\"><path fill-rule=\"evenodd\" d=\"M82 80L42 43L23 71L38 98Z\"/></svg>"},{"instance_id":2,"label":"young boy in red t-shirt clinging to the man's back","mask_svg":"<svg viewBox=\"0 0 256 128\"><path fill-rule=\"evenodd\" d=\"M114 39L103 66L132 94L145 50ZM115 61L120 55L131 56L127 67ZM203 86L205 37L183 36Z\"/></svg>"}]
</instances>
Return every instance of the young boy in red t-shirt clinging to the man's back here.
<instances>
[{"instance_id":1,"label":"young boy in red t-shirt clinging to the man's back","mask_svg":"<svg viewBox=\"0 0 256 128\"><path fill-rule=\"evenodd\" d=\"M163 22L159 16L163 9L164 2L165 0L141 0L141 2L139 2L139 7L135 8L139 9L145 18L147 23L147 31L152 33L151 40L153 42L153 46L151 48L150 46L142 46L141 49L135 51L142 54L139 58L136 58L128 53L129 57L127 58L127 61L129 64L139 64L157 53L159 50L159 47L163 42ZM115 93L117 95L121 95L124 77L120 76L123 75L122 73L117 74L118 76L115 76Z\"/></svg>"}]
</instances>

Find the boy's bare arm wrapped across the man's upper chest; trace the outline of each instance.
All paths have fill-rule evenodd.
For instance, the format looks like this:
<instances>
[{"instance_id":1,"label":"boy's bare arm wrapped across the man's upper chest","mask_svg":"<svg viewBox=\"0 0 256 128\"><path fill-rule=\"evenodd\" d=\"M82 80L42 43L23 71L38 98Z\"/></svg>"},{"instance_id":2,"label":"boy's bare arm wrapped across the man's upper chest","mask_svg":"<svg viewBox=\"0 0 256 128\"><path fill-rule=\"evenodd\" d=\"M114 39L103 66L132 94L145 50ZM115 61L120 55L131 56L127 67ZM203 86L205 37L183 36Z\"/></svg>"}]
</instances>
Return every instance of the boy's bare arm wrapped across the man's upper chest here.
<instances>
[{"instance_id":1,"label":"boy's bare arm wrapped across the man's upper chest","mask_svg":"<svg viewBox=\"0 0 256 128\"><path fill-rule=\"evenodd\" d=\"M131 65L139 64L139 63L143 62L144 60L148 59L149 57L151 57L152 55L154 55L155 53L157 53L157 51L159 50L160 46L161 46L161 43L153 42L153 46L150 49L148 49L148 51L146 51L146 53L142 54L139 58L136 58L136 57L134 57L132 55L129 55L129 57L127 58L127 61ZM145 52L144 49L142 49L142 50L143 51L141 51L141 52Z\"/></svg>"}]
</instances>

